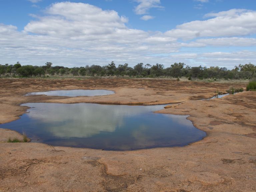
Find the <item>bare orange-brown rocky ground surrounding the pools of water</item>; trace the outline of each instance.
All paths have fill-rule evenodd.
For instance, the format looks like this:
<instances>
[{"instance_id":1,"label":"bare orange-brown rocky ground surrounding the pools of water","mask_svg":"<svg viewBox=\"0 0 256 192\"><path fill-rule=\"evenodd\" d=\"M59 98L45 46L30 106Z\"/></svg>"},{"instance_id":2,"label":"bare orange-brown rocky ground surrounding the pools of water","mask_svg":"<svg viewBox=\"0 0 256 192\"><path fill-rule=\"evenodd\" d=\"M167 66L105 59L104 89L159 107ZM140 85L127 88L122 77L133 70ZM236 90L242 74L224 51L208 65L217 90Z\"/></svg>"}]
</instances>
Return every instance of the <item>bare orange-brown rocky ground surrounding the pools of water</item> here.
<instances>
[{"instance_id":1,"label":"bare orange-brown rocky ground surrounding the pools of water","mask_svg":"<svg viewBox=\"0 0 256 192\"><path fill-rule=\"evenodd\" d=\"M0 79L0 123L19 118L27 109L19 104L28 102L173 103L158 112L190 115L188 119L207 133L185 147L137 151L0 143L0 191L256 191L256 92L198 100L230 86L165 79ZM23 96L60 89L108 89L116 94ZM0 130L1 142L17 135Z\"/></svg>"}]
</instances>

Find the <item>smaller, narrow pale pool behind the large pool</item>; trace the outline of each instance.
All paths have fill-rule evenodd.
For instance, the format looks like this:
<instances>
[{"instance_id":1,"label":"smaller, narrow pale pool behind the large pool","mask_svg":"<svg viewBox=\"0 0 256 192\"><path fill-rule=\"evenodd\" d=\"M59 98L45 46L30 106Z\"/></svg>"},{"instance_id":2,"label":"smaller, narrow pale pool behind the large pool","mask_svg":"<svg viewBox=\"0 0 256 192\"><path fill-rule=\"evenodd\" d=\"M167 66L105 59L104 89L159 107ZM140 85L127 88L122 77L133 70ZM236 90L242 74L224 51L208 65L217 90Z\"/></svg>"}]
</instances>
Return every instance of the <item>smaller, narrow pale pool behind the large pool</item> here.
<instances>
[{"instance_id":1,"label":"smaller, narrow pale pool behind the large pool","mask_svg":"<svg viewBox=\"0 0 256 192\"><path fill-rule=\"evenodd\" d=\"M49 96L68 96L68 97L76 97L76 96L101 96L101 95L111 95L114 94L114 91L109 90L56 90L56 91L44 91L44 92L32 92L26 94L28 95L49 95Z\"/></svg>"}]
</instances>

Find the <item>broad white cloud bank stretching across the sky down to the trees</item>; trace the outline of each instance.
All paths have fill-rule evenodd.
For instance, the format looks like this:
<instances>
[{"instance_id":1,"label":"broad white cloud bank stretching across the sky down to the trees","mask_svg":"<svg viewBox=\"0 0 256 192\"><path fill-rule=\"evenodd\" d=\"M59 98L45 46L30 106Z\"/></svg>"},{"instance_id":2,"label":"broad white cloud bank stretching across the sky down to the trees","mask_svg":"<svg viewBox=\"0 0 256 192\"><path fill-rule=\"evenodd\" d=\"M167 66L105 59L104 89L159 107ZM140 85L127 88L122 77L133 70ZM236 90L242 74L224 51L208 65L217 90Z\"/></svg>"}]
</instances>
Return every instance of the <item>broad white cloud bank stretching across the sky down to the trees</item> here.
<instances>
[{"instance_id":1,"label":"broad white cloud bank stretching across the sky down to the trees","mask_svg":"<svg viewBox=\"0 0 256 192\"><path fill-rule=\"evenodd\" d=\"M256 34L255 11L214 14L208 15L210 19L184 23L162 33L130 28L128 19L114 10L85 3L54 3L43 16L31 15L33 20L23 31L0 24L0 64L20 61L24 65L44 65L48 61L79 67L115 61L117 65L143 62L168 67L185 62L232 68L239 63L256 63L256 52L246 50L256 46L256 39L249 36ZM200 53L204 47L219 46L239 47L240 51Z\"/></svg>"}]
</instances>

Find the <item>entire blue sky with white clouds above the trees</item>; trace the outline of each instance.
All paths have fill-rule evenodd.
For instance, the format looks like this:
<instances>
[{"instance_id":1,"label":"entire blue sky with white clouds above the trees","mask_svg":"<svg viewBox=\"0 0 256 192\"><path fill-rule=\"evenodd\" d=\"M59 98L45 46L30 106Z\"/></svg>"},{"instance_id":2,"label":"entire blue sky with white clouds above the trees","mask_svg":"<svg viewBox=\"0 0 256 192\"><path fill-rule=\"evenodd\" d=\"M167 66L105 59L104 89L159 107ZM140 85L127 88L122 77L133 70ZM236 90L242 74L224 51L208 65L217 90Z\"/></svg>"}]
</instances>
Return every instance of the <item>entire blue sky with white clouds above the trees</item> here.
<instances>
[{"instance_id":1,"label":"entire blue sky with white clouds above the trees","mask_svg":"<svg viewBox=\"0 0 256 192\"><path fill-rule=\"evenodd\" d=\"M0 0L0 64L256 64L255 0Z\"/></svg>"}]
</instances>

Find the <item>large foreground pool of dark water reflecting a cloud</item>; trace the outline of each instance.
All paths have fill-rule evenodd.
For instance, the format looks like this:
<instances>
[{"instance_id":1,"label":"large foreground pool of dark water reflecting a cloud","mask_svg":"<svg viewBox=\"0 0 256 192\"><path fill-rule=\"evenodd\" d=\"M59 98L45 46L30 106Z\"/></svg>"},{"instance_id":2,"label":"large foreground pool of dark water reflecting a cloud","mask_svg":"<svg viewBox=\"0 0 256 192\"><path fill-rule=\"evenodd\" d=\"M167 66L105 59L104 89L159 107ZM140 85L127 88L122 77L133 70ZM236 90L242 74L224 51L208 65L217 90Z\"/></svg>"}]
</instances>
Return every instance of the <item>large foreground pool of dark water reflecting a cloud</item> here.
<instances>
[{"instance_id":1,"label":"large foreground pool of dark water reflecting a cloud","mask_svg":"<svg viewBox=\"0 0 256 192\"><path fill-rule=\"evenodd\" d=\"M25 131L32 142L105 150L184 146L206 133L184 115L152 113L165 105L26 103L20 119L1 128Z\"/></svg>"}]
</instances>

